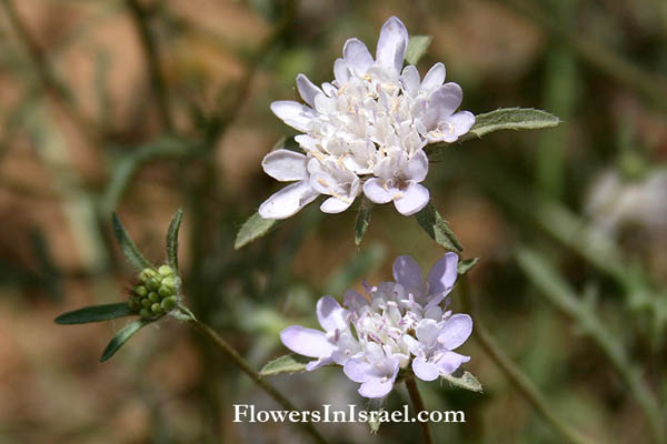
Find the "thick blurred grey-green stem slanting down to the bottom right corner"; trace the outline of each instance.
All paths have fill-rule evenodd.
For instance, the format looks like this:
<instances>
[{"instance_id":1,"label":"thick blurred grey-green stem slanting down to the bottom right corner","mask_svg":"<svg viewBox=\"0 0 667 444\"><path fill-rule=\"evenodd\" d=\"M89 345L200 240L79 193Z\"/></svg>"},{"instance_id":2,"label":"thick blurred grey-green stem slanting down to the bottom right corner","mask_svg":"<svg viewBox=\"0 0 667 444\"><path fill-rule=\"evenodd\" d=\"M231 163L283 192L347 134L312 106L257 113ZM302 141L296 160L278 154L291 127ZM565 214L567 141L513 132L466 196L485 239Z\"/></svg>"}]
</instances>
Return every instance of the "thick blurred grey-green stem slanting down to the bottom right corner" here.
<instances>
[{"instance_id":1,"label":"thick blurred grey-green stem slanting down to the bottom right corner","mask_svg":"<svg viewBox=\"0 0 667 444\"><path fill-rule=\"evenodd\" d=\"M655 443L665 443L665 420L650 387L641 376L641 370L628 357L623 342L605 326L596 313L576 292L560 279L541 256L528 249L517 253L519 268L540 290L540 293L561 312L575 320L577 325L600 347L607 360L628 386L631 396L648 420Z\"/></svg>"}]
</instances>

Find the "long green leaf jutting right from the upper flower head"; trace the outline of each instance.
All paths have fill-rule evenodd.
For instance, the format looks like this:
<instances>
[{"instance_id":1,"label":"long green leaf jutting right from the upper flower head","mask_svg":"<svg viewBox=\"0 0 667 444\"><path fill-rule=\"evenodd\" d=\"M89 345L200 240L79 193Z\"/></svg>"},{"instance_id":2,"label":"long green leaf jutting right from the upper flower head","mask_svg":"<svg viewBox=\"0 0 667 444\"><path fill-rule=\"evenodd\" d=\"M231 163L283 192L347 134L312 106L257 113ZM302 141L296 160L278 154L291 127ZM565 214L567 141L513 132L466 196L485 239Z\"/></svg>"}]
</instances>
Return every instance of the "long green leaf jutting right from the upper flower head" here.
<instances>
[{"instance_id":1,"label":"long green leaf jutting right from the upper flower head","mask_svg":"<svg viewBox=\"0 0 667 444\"><path fill-rule=\"evenodd\" d=\"M459 138L459 142L481 138L499 130L538 130L542 128L557 127L560 119L556 115L532 108L501 108L496 111L486 112L475 117L475 124L466 134ZM451 148L450 143L436 143L426 148L429 160L438 160L444 150Z\"/></svg>"}]
</instances>

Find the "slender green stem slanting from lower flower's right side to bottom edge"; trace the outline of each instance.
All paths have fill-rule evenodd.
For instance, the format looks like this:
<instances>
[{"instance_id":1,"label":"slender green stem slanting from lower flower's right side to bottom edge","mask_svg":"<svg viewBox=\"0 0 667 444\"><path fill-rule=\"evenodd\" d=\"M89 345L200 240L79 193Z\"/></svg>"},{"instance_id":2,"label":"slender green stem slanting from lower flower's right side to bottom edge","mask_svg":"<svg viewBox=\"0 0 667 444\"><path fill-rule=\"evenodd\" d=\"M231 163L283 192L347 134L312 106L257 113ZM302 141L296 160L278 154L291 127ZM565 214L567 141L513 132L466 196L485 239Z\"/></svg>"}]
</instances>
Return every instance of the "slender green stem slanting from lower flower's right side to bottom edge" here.
<instances>
[{"instance_id":1,"label":"slender green stem slanting from lower flower's right side to bottom edge","mask_svg":"<svg viewBox=\"0 0 667 444\"><path fill-rule=\"evenodd\" d=\"M472 336L479 343L481 349L489 357L498 365L500 371L505 373L507 379L515 385L524 398L540 414L545 420L573 444L589 444L590 441L577 431L569 427L563 422L550 408L547 397L532 384L528 376L500 350L491 334L481 323L479 315L475 313L472 302L470 300L470 290L467 275L459 278L461 289L461 301L464 310L468 312L475 320L475 329Z\"/></svg>"}]
</instances>

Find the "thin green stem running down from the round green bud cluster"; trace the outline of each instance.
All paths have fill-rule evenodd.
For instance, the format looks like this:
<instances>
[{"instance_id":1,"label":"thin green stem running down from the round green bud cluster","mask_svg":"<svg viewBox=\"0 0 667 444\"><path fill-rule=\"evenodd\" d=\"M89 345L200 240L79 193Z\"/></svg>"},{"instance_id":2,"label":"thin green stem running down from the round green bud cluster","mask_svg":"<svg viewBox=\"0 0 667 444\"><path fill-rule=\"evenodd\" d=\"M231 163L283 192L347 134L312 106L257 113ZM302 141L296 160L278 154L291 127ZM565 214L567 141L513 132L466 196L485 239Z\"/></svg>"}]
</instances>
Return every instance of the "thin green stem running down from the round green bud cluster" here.
<instances>
[{"instance_id":1,"label":"thin green stem running down from the round green bud cluster","mask_svg":"<svg viewBox=\"0 0 667 444\"><path fill-rule=\"evenodd\" d=\"M259 377L257 372L250 366L248 361L243 359L231 345L227 343L216 331L213 331L208 325L196 320L191 314L188 314L188 324L190 324L195 330L207 336L227 356L229 356L236 365L238 365L243 373L246 373L250 379L259 385L269 396L271 396L278 404L280 404L283 408L288 411L298 412L299 408L295 404L292 404L287 397L285 397L276 387L271 384ZM298 425L303 428L312 438L320 444L327 444L327 441L320 433L315 428L312 423L309 422L299 422Z\"/></svg>"}]
</instances>

